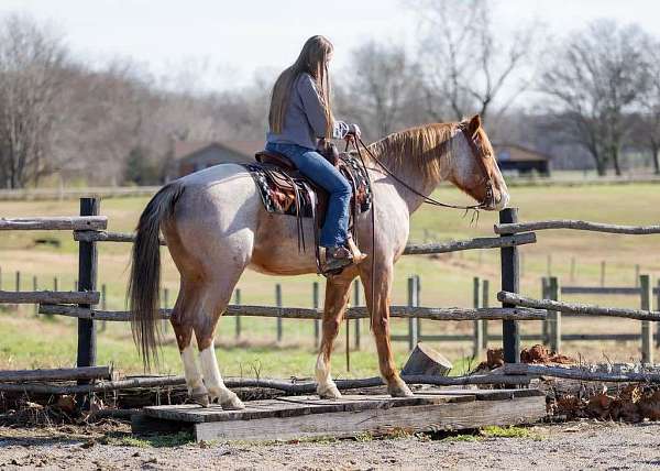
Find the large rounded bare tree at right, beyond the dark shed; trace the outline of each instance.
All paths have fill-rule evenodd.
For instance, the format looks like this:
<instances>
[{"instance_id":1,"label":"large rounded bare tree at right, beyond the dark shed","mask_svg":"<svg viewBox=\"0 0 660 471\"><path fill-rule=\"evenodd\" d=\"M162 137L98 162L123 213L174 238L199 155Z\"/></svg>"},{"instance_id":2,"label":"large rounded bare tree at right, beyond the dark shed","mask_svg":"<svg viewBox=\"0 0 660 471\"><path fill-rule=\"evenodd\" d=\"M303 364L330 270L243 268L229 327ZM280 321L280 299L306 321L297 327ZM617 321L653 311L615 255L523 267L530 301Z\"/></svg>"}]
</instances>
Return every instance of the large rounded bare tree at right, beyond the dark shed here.
<instances>
[{"instance_id":1,"label":"large rounded bare tree at right, beyond the dark shed","mask_svg":"<svg viewBox=\"0 0 660 471\"><path fill-rule=\"evenodd\" d=\"M571 35L542 76L541 89L552 98L566 135L591 153L598 175L608 164L622 174L630 111L648 83L645 40L636 25L594 22Z\"/></svg>"}]
</instances>

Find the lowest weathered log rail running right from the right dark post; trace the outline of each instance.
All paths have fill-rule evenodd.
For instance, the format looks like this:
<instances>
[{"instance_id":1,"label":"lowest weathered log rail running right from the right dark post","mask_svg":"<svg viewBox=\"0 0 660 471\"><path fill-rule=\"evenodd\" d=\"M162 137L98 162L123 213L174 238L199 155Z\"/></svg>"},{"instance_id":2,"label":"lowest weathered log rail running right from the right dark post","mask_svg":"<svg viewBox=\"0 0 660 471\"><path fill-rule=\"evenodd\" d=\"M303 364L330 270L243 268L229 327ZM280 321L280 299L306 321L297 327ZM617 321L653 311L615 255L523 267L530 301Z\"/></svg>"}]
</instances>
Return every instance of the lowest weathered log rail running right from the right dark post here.
<instances>
[{"instance_id":1,"label":"lowest weathered log rail running right from the right dark post","mask_svg":"<svg viewBox=\"0 0 660 471\"><path fill-rule=\"evenodd\" d=\"M613 383L645 382L659 383L660 373L606 373L582 370L579 368L544 366L525 363L505 363L505 375L522 374L525 376L551 376L578 381L603 381Z\"/></svg>"}]
</instances>

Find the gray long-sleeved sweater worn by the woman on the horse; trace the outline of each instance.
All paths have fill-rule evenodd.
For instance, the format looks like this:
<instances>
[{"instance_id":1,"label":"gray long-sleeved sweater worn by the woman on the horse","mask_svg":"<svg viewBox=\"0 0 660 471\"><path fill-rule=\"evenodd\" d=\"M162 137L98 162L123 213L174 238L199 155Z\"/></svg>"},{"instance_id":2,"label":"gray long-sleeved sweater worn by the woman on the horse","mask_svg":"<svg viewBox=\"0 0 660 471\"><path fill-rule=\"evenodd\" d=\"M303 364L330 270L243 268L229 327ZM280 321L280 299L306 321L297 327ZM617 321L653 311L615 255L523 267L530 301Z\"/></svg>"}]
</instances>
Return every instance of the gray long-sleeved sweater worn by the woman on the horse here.
<instances>
[{"instance_id":1,"label":"gray long-sleeved sweater worn by the woman on the horse","mask_svg":"<svg viewBox=\"0 0 660 471\"><path fill-rule=\"evenodd\" d=\"M309 74L304 73L294 81L282 132L268 132L266 141L316 149L318 139L326 135L326 112L316 83ZM333 139L343 139L348 132L345 122L334 120Z\"/></svg>"}]
</instances>

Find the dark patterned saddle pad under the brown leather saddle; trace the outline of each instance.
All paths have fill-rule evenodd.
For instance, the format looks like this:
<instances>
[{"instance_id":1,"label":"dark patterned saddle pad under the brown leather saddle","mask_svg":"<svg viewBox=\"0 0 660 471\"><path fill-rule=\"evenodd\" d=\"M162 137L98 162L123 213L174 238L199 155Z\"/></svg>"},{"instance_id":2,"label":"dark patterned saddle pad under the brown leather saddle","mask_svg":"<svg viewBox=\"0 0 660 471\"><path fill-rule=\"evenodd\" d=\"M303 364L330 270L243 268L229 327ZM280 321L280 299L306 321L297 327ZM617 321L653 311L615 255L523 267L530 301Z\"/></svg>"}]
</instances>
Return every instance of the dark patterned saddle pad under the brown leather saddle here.
<instances>
[{"instance_id":1,"label":"dark patterned saddle pad under the brown leather saddle","mask_svg":"<svg viewBox=\"0 0 660 471\"><path fill-rule=\"evenodd\" d=\"M372 193L369 186L366 174L362 169L360 162L351 154L340 154L340 160L342 161L342 165L340 166L342 174L346 176L346 173L350 172L352 179L355 182L353 196L356 196L358 212L362 213L369 211L372 205ZM254 179L266 211L279 215L311 218L314 213L311 208L312 198L310 198L308 189L312 191L316 189L319 193L323 191L322 189L316 186L311 187L310 180L306 178L290 178L290 174L287 174L286 172L274 167L273 165L264 165L261 163L249 163L241 165L248 169L248 172L250 172L250 175ZM296 193L292 188L292 179L298 189L298 195L301 197L300 215L296 213ZM350 183L350 176L348 179ZM314 199L317 201L319 200L318 197Z\"/></svg>"}]
</instances>

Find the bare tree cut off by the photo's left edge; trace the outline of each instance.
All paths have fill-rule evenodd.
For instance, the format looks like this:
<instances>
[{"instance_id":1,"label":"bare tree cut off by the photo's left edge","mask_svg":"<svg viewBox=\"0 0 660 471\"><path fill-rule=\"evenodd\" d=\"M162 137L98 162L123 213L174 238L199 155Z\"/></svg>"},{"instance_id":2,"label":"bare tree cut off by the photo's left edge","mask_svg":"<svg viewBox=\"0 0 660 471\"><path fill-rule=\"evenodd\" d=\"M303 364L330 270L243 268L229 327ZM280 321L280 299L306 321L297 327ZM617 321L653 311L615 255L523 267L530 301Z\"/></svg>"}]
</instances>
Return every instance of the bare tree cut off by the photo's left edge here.
<instances>
[{"instance_id":1,"label":"bare tree cut off by the photo's left edge","mask_svg":"<svg viewBox=\"0 0 660 471\"><path fill-rule=\"evenodd\" d=\"M0 186L20 188L53 171L54 107L67 52L26 17L0 22Z\"/></svg>"}]
</instances>

